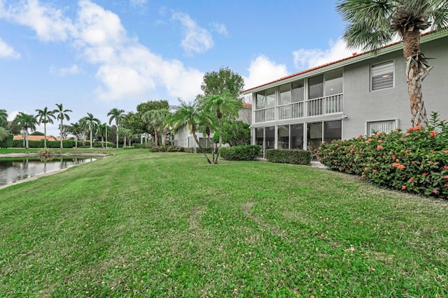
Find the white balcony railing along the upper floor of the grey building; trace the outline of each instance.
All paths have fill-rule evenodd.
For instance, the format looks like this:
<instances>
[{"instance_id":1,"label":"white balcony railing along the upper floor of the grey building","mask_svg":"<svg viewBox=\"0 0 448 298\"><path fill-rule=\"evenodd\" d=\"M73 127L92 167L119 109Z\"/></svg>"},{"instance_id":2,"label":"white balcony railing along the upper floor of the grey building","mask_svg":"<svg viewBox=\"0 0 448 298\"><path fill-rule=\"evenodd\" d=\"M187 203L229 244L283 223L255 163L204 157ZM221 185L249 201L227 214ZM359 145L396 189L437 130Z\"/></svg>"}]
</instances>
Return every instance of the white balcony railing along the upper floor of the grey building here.
<instances>
[{"instance_id":1,"label":"white balcony railing along the upper floor of the grey building","mask_svg":"<svg viewBox=\"0 0 448 298\"><path fill-rule=\"evenodd\" d=\"M343 94L336 94L332 96L305 100L300 103L289 103L288 105L255 110L255 123L276 120L275 112L278 114L278 120L315 117L339 113L343 110L343 98Z\"/></svg>"}]
</instances>

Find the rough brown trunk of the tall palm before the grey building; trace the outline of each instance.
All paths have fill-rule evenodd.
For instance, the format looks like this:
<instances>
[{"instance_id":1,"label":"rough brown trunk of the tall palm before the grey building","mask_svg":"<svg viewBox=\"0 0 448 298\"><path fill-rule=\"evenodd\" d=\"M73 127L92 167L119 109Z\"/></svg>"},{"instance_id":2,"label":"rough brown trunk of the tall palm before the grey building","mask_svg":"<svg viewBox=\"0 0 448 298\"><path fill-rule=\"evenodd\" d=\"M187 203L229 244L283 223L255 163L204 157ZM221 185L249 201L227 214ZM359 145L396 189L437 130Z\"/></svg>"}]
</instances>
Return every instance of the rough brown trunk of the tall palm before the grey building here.
<instances>
[{"instance_id":1,"label":"rough brown trunk of the tall palm before the grey building","mask_svg":"<svg viewBox=\"0 0 448 298\"><path fill-rule=\"evenodd\" d=\"M403 32L403 54L406 59L407 91L411 105L412 126L428 126L428 115L423 105L421 82L428 75L430 67L427 66L425 57L420 52L420 32Z\"/></svg>"}]
</instances>

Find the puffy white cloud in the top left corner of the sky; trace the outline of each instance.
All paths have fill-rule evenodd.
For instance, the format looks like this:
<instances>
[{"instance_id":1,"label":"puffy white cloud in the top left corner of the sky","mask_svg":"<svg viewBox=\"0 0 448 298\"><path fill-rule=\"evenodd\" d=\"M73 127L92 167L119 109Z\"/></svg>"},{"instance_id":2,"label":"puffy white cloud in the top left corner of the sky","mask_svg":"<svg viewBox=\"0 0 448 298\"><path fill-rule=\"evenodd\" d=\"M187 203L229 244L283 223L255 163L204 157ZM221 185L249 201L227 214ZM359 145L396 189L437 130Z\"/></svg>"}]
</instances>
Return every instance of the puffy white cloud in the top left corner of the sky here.
<instances>
[{"instance_id":1,"label":"puffy white cloud in the top left corner of the sky","mask_svg":"<svg viewBox=\"0 0 448 298\"><path fill-rule=\"evenodd\" d=\"M63 11L38 0L18 1L4 8L0 3L0 17L31 27L44 41L66 40L73 31L73 24Z\"/></svg>"}]
</instances>

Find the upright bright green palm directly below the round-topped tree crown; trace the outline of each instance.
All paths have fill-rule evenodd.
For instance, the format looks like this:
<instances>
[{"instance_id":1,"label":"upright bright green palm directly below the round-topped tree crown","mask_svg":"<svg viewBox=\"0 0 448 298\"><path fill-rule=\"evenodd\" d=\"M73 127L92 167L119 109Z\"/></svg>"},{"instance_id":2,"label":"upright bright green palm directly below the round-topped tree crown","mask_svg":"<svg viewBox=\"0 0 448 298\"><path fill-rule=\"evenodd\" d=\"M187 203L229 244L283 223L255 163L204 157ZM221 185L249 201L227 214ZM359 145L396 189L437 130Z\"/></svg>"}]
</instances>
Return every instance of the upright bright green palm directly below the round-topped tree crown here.
<instances>
[{"instance_id":1,"label":"upright bright green palm directly below the round-topped tree crown","mask_svg":"<svg viewBox=\"0 0 448 298\"><path fill-rule=\"evenodd\" d=\"M222 126L223 126L223 114L226 117L238 116L239 110L243 108L243 103L240 98L232 96L230 91L225 90L222 94L212 94L209 96L204 96L201 99L204 110L216 110L216 117L218 118L218 128L219 128L219 147L216 154L216 159L214 163L218 163L219 150L223 144L222 137Z\"/></svg>"}]
</instances>

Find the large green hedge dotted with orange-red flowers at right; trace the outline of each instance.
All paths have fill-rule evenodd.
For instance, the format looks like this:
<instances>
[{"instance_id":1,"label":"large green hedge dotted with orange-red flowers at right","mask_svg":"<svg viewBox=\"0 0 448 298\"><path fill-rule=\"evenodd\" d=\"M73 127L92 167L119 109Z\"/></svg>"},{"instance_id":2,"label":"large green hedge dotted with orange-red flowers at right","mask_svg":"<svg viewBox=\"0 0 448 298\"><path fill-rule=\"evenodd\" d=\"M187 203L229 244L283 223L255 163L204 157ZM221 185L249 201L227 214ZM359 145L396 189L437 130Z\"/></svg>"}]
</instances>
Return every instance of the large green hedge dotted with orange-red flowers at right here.
<instances>
[{"instance_id":1,"label":"large green hedge dotted with orange-red flowers at right","mask_svg":"<svg viewBox=\"0 0 448 298\"><path fill-rule=\"evenodd\" d=\"M448 198L448 124L437 113L428 128L324 142L316 155L332 170L358 174L381 186Z\"/></svg>"}]
</instances>

